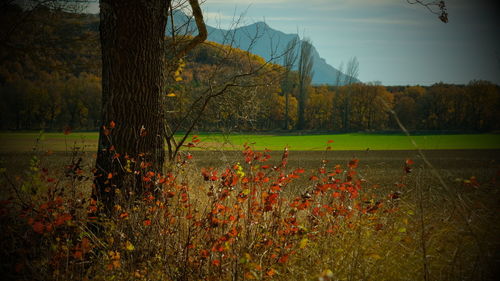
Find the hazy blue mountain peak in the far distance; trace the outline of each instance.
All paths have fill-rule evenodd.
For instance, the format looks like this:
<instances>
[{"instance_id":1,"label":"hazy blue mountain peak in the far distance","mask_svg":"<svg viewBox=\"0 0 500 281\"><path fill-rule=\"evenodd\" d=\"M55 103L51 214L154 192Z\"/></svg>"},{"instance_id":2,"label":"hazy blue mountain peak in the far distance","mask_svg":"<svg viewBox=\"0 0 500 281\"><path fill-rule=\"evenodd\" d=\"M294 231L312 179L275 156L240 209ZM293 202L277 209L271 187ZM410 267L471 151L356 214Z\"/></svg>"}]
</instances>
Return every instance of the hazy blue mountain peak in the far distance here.
<instances>
[{"instance_id":1,"label":"hazy blue mountain peak in the far distance","mask_svg":"<svg viewBox=\"0 0 500 281\"><path fill-rule=\"evenodd\" d=\"M184 13L178 11L174 14L174 25L181 26L178 33L196 33L196 26L192 20ZM167 26L167 32L170 30L170 25ZM271 28L265 22L256 22L247 26L242 26L233 30L218 29L212 26L207 26L208 40L224 45L232 45L233 47L247 50L251 53L263 57L265 60L272 60L274 63L282 64L280 54L286 50L288 42L298 39L297 34L286 34L279 30ZM316 48L313 46L313 84L330 84L335 85L337 75L340 76L340 81L344 81L346 75L339 70L329 65L323 59ZM297 69L297 63L294 66ZM359 81L359 80L355 80Z\"/></svg>"}]
</instances>

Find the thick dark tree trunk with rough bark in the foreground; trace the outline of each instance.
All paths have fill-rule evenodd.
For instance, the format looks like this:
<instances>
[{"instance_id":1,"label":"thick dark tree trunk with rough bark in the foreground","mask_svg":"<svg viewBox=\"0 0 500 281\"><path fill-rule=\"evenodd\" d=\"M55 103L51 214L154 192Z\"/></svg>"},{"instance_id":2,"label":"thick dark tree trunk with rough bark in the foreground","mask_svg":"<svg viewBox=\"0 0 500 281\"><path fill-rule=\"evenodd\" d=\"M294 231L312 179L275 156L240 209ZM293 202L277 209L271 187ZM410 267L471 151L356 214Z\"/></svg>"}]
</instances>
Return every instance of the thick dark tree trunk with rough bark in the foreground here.
<instances>
[{"instance_id":1,"label":"thick dark tree trunk with rough bark in the foreground","mask_svg":"<svg viewBox=\"0 0 500 281\"><path fill-rule=\"evenodd\" d=\"M102 118L93 196L105 213L112 210L117 189L140 195L141 174L163 167L169 5L167 0L100 1Z\"/></svg>"}]
</instances>

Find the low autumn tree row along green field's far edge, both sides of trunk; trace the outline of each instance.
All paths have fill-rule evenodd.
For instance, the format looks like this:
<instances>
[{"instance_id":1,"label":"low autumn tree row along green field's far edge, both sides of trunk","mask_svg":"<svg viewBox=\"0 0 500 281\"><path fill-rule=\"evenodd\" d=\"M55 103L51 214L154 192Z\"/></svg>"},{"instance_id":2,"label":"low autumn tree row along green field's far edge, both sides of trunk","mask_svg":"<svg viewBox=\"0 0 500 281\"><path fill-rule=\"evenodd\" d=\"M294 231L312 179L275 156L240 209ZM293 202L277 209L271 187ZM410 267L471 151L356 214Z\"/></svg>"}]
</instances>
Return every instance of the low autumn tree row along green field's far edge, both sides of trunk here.
<instances>
[{"instance_id":1,"label":"low autumn tree row along green field's far edge, both sides of trunk","mask_svg":"<svg viewBox=\"0 0 500 281\"><path fill-rule=\"evenodd\" d=\"M200 76L208 69L208 65L198 65L184 70L183 80L167 98L167 118L180 121L196 99L197 83L203 79ZM278 79L279 73L274 76ZM101 78L94 74L61 77L44 73L37 80L16 79L0 85L0 97L2 130L97 130L99 126ZM293 130L299 126L299 100L298 87L287 97L277 83L230 90L212 101L196 129L263 131L287 126ZM487 81L405 87L362 83L309 86L302 128L399 130L392 110L409 130L494 131L500 129L498 108L500 88Z\"/></svg>"}]
</instances>

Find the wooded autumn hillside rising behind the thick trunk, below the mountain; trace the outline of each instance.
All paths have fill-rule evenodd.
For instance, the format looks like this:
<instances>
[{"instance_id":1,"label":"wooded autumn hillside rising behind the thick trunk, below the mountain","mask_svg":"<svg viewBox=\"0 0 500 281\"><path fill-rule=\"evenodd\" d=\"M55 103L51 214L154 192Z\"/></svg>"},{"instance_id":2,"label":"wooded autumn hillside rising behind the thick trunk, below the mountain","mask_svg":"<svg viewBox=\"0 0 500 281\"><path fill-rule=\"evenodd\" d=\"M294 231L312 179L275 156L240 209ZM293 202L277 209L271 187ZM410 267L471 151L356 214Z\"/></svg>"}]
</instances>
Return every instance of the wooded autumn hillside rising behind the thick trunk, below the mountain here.
<instances>
[{"instance_id":1,"label":"wooded autumn hillside rising behind the thick trunk, below the mountain","mask_svg":"<svg viewBox=\"0 0 500 281\"><path fill-rule=\"evenodd\" d=\"M68 126L96 130L101 104L99 17L40 7L30 12L31 21L8 34L11 23L26 13L16 6L2 11L0 35L7 40L0 44L0 129L60 130ZM165 94L175 97L166 97L173 123L185 122L182 116L197 110L189 106L206 94L208 85L223 86L231 81L239 86L255 85L251 90L259 93L258 99L250 100L244 98L246 89L231 89L230 98L211 101L217 106L209 107L202 120L211 129L225 126L220 120L236 124L237 120L269 116L263 113L265 106L258 110L251 106L279 92L279 67L261 67L265 60L244 50L206 42L187 55L182 67L177 68L176 60L169 62L171 75ZM244 77L234 79L241 74ZM233 106L236 102L240 107Z\"/></svg>"}]
</instances>

